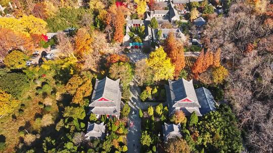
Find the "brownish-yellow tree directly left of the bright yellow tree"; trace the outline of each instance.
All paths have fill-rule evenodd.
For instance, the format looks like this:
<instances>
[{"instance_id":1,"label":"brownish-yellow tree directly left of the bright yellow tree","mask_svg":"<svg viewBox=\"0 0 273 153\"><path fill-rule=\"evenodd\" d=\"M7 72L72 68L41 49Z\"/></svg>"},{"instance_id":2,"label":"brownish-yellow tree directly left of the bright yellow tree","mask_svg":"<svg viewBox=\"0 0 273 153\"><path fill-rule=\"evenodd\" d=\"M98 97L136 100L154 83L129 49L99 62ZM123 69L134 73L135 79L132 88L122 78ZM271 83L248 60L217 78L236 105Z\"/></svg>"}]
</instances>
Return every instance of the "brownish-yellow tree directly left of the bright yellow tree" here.
<instances>
[{"instance_id":1,"label":"brownish-yellow tree directly left of the bright yellow tree","mask_svg":"<svg viewBox=\"0 0 273 153\"><path fill-rule=\"evenodd\" d=\"M139 86L143 86L144 84L150 85L153 83L153 69L147 65L145 59L139 60L135 63L134 78L138 81Z\"/></svg>"}]
</instances>

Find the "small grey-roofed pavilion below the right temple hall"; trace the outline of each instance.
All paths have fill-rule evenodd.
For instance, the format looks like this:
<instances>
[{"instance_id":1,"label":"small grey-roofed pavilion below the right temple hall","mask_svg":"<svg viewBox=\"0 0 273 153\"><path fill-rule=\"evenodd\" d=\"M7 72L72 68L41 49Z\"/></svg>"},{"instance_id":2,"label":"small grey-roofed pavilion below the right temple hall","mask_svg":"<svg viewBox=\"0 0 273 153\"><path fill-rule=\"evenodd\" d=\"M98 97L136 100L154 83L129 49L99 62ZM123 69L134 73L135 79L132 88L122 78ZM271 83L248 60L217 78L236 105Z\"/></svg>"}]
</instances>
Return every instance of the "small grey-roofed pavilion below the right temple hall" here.
<instances>
[{"instance_id":1,"label":"small grey-roofed pavilion below the right temple hall","mask_svg":"<svg viewBox=\"0 0 273 153\"><path fill-rule=\"evenodd\" d=\"M163 137L165 142L169 138L182 137L180 132L181 131L180 123L177 125L164 123L164 125L162 125L162 128L163 128Z\"/></svg>"}]
</instances>

